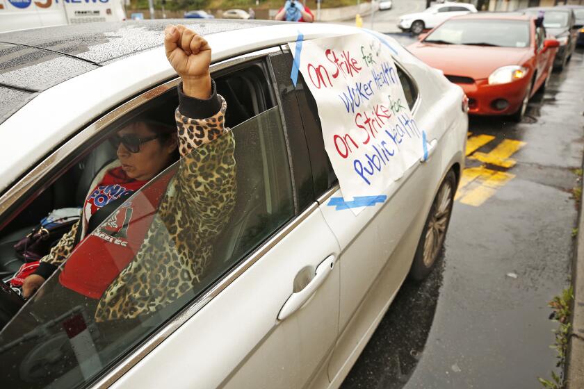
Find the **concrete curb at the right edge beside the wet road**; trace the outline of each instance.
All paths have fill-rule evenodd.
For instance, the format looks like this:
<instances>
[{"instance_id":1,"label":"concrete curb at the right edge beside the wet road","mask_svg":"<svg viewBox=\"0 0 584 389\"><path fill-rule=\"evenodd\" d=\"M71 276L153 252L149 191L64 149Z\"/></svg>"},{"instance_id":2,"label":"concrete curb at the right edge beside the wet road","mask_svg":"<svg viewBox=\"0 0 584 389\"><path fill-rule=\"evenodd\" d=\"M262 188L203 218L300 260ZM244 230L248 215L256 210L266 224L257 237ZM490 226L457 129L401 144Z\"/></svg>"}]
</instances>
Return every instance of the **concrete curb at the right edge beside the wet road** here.
<instances>
[{"instance_id":1,"label":"concrete curb at the right edge beside the wet road","mask_svg":"<svg viewBox=\"0 0 584 389\"><path fill-rule=\"evenodd\" d=\"M571 322L571 336L568 341L566 364L567 389L584 388L584 217L580 199L578 220L578 240L576 258L572 265L572 285L574 285L574 308Z\"/></svg>"}]
</instances>

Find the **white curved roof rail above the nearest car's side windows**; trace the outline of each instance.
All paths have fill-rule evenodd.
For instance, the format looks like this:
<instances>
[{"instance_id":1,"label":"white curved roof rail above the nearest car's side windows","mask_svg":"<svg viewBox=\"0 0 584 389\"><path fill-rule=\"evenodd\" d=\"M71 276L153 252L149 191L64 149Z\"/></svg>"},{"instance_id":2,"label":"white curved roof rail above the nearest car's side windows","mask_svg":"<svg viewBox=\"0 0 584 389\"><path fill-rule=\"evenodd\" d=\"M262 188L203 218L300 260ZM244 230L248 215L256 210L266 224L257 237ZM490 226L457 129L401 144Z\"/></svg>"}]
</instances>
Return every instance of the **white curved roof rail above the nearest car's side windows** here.
<instances>
[{"instance_id":1,"label":"white curved roof rail above the nearest car's side windows","mask_svg":"<svg viewBox=\"0 0 584 389\"><path fill-rule=\"evenodd\" d=\"M206 20L199 23L189 26L195 26L197 31L202 31L201 24L216 22ZM266 53L273 52L279 45L297 41L300 33L304 40L312 40L364 31L355 26L335 24L270 23L271 25L264 25L268 24L265 22L244 23L245 26L258 27L206 35L213 47L211 63L218 64L247 53L253 53L249 58L254 58L263 49L266 49ZM378 37L384 36L374 31L368 32ZM0 155L3 156L0 164L0 196L10 190L10 185L42 158L57 153L55 150L58 147L63 146L63 151L58 151L60 156L71 152L72 149L68 148L70 146L65 145L79 133L79 129L84 128L86 133L91 133L93 128L90 124L95 123L104 113L130 101L137 93L151 90L154 85L176 78L175 70L165 57L162 38L160 29L159 42L153 43L156 47L128 54L121 59L109 60L91 72L74 76L43 92L35 92L36 96L24 106L13 108L15 112L0 123ZM385 40L392 42L392 51L396 58L402 60L403 65L419 63L419 60L393 38L385 37ZM406 59L409 62L404 62ZM165 87L159 85L159 88ZM8 94L6 99L0 94L0 106L3 106L3 100L19 101L21 97L18 94L26 93L14 88L7 89L13 94ZM45 163L39 169L50 166L50 163Z\"/></svg>"}]
</instances>

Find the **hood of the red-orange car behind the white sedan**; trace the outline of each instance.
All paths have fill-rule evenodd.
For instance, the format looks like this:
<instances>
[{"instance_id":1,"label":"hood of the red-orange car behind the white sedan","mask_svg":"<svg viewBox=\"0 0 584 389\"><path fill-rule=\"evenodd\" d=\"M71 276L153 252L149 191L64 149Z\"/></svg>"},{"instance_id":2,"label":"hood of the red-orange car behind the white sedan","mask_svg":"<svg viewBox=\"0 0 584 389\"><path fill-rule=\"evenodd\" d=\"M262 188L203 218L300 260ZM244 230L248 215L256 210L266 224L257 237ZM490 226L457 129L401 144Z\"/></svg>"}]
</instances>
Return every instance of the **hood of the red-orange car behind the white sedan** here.
<instances>
[{"instance_id":1,"label":"hood of the red-orange car behind the white sedan","mask_svg":"<svg viewBox=\"0 0 584 389\"><path fill-rule=\"evenodd\" d=\"M416 42L407 49L428 65L441 69L444 74L476 80L488 78L498 67L521 65L533 53L529 47L517 49L423 42Z\"/></svg>"}]
</instances>

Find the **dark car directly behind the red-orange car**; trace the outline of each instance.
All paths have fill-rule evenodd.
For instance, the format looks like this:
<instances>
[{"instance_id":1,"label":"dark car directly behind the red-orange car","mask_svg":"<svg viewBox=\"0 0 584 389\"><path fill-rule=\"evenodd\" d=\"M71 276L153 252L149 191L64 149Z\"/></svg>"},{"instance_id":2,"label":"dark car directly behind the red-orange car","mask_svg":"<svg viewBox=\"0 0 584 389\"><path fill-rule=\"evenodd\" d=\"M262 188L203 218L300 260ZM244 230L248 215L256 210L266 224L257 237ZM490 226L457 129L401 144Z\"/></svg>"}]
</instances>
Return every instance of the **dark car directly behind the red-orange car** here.
<instances>
[{"instance_id":1,"label":"dark car directly behind the red-orange car","mask_svg":"<svg viewBox=\"0 0 584 389\"><path fill-rule=\"evenodd\" d=\"M574 11L560 7L533 7L526 8L523 12L535 17L543 13L546 31L560 42L558 53L553 61L553 69L562 70L576 48L578 29Z\"/></svg>"}]
</instances>

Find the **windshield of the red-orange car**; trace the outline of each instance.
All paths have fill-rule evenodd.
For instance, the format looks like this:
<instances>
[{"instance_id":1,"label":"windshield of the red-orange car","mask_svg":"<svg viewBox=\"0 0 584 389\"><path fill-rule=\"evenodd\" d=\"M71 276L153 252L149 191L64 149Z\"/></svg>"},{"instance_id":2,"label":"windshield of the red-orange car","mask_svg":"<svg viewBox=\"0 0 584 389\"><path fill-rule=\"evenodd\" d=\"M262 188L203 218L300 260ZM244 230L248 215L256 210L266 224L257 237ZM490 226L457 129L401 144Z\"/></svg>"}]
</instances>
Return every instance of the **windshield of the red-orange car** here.
<instances>
[{"instance_id":1,"label":"windshield of the red-orange car","mask_svg":"<svg viewBox=\"0 0 584 389\"><path fill-rule=\"evenodd\" d=\"M449 20L428 35L424 42L528 47L529 24L524 21L496 19Z\"/></svg>"}]
</instances>

